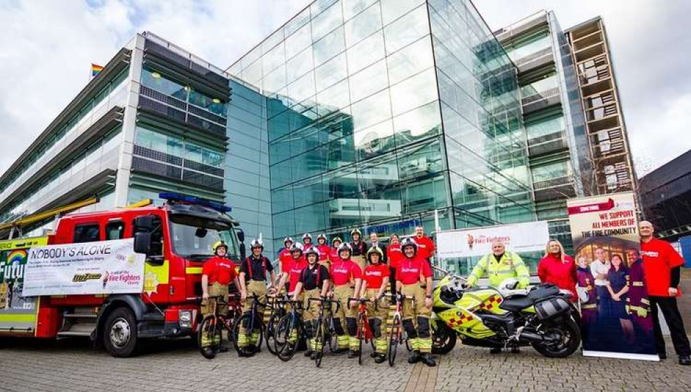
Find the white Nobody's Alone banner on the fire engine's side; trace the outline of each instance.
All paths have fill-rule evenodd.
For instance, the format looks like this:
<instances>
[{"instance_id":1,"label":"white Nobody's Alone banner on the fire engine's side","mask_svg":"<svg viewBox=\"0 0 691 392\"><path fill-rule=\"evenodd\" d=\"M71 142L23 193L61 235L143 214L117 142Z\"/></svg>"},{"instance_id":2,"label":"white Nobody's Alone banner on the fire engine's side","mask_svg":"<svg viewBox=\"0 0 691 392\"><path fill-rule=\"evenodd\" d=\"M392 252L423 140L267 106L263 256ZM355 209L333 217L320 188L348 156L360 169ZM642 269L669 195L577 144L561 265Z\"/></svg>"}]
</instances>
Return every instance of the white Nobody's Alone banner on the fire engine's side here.
<instances>
[{"instance_id":1,"label":"white Nobody's Alone banner on the fire engine's side","mask_svg":"<svg viewBox=\"0 0 691 392\"><path fill-rule=\"evenodd\" d=\"M132 238L30 248L23 295L141 293L144 258Z\"/></svg>"}]
</instances>

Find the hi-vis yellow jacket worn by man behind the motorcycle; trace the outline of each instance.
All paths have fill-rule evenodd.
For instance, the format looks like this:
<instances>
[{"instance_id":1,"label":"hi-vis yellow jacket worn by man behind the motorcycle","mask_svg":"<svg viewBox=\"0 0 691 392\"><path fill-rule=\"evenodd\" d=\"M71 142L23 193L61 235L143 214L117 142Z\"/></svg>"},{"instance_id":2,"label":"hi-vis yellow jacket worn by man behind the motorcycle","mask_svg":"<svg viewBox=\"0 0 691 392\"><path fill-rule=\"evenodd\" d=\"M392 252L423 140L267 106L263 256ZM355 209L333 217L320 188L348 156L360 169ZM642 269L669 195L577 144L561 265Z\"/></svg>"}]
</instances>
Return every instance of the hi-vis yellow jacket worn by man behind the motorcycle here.
<instances>
[{"instance_id":1,"label":"hi-vis yellow jacket worn by man behind the motorcycle","mask_svg":"<svg viewBox=\"0 0 691 392\"><path fill-rule=\"evenodd\" d=\"M468 276L468 286L475 286L477 280L485 273L489 277L489 285L495 288L510 277L518 280L518 288L526 288L530 283L528 267L517 253L509 251L504 252L499 262L492 253L482 257Z\"/></svg>"}]
</instances>

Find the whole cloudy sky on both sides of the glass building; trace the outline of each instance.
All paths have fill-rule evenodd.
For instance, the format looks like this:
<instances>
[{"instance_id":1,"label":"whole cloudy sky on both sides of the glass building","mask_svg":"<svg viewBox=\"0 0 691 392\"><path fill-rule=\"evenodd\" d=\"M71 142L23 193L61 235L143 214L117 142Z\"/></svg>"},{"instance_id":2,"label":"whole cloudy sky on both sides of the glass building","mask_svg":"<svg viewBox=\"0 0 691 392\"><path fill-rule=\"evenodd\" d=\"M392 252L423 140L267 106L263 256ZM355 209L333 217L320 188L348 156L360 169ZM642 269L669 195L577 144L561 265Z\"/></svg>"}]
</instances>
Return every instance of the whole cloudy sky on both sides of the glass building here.
<instances>
[{"instance_id":1,"label":"whole cloudy sky on both sides of the glass building","mask_svg":"<svg viewBox=\"0 0 691 392\"><path fill-rule=\"evenodd\" d=\"M227 68L308 0L8 0L0 2L3 173L136 32L149 30ZM475 0L492 30L538 10L562 28L605 20L638 175L691 149L686 0Z\"/></svg>"}]
</instances>

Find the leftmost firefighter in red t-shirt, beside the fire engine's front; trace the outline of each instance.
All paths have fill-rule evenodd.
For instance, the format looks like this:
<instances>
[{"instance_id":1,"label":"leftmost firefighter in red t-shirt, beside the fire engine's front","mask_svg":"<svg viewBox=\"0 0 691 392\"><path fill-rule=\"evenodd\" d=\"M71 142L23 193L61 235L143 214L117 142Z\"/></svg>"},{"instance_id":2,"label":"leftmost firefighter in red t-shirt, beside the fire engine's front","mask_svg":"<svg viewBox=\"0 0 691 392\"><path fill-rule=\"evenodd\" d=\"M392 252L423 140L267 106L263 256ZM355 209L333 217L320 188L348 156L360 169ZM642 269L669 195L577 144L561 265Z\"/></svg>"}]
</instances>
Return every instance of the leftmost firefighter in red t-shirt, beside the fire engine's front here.
<instances>
[{"instance_id":1,"label":"leftmost firefighter in red t-shirt, beside the fire engine's front","mask_svg":"<svg viewBox=\"0 0 691 392\"><path fill-rule=\"evenodd\" d=\"M217 241L212 246L214 257L207 260L202 268L202 314L211 313L211 308L216 300L209 300L209 295L223 295L223 300L228 302L228 285L233 282L236 290L240 290L238 274L235 264L226 257L228 245L223 241ZM218 313L227 314L228 306L219 305Z\"/></svg>"}]
</instances>

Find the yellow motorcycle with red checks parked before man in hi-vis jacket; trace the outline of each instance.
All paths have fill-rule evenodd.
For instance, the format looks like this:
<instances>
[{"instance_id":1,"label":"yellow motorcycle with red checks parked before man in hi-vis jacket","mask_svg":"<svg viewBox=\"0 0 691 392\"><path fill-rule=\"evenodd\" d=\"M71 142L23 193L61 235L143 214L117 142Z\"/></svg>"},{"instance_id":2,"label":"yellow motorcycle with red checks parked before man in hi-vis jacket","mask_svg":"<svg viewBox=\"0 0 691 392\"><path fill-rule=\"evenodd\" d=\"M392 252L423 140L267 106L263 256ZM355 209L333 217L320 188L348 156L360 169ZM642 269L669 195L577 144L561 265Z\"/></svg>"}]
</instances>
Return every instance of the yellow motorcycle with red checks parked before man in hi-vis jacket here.
<instances>
[{"instance_id":1,"label":"yellow motorcycle with red checks parked before man in hi-vis jacket","mask_svg":"<svg viewBox=\"0 0 691 392\"><path fill-rule=\"evenodd\" d=\"M567 357L580 346L580 314L570 293L553 285L516 290L516 280L501 290L466 288L463 277L435 269L445 275L434 290L433 353L448 353L457 337L468 346L530 345L546 357Z\"/></svg>"}]
</instances>

